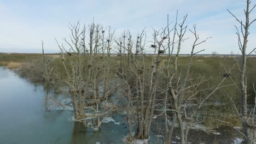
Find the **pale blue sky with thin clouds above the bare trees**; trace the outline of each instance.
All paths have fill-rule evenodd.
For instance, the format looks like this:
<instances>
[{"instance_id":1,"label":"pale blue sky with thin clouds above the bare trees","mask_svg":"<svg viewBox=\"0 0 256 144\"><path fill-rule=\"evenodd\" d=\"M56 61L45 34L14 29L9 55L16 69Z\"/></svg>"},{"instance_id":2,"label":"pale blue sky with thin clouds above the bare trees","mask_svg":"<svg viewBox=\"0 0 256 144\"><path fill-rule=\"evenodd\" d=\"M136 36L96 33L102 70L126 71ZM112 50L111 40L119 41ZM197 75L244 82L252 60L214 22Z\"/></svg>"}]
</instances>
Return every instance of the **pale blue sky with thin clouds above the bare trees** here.
<instances>
[{"instance_id":1,"label":"pale blue sky with thin clouds above the bare trees","mask_svg":"<svg viewBox=\"0 0 256 144\"><path fill-rule=\"evenodd\" d=\"M46 52L59 52L54 38L68 37L68 22L80 20L89 24L93 17L96 23L115 28L117 37L127 29L136 34L144 27L150 35L151 27L165 27L167 14L170 21L174 21L179 10L180 18L188 13L188 28L196 23L201 39L212 37L197 49L206 49L203 53L237 53L234 28L237 22L226 9L243 19L245 4L245 0L0 0L0 52L41 52L41 40L44 40ZM256 2L252 1L253 4ZM256 18L256 10L251 14L253 18ZM193 36L188 31L185 37L189 40L183 44L182 53L189 53ZM251 27L248 51L254 47L256 23Z\"/></svg>"}]
</instances>

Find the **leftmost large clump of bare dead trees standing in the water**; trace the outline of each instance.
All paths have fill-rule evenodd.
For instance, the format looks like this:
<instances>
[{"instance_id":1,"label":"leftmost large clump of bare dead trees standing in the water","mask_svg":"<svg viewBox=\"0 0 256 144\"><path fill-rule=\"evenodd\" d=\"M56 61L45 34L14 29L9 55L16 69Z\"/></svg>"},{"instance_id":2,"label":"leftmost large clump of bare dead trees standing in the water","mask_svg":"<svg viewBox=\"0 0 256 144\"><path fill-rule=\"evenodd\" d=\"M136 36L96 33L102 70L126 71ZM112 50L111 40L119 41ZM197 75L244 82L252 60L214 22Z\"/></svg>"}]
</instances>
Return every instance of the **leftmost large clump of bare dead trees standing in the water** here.
<instances>
[{"instance_id":1,"label":"leftmost large clump of bare dead trees standing in the water","mask_svg":"<svg viewBox=\"0 0 256 144\"><path fill-rule=\"evenodd\" d=\"M75 121L98 130L114 107L101 104L108 103L108 97L115 91L110 68L114 31L95 23L69 24L70 37L64 38L62 44L56 40L64 71L59 80L60 89L71 96Z\"/></svg>"}]
</instances>

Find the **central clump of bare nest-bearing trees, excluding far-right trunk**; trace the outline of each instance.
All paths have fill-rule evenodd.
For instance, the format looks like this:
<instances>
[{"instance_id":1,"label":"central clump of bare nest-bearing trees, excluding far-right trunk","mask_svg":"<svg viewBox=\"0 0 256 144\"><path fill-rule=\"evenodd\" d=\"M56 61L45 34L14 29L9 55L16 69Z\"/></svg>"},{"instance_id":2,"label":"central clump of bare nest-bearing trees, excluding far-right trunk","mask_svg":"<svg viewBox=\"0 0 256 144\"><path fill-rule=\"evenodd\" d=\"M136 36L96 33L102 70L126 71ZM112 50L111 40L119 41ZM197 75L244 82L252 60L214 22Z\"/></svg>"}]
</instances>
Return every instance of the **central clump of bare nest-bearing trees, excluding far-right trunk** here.
<instances>
[{"instance_id":1,"label":"central clump of bare nest-bearing trees, excluding far-right trunk","mask_svg":"<svg viewBox=\"0 0 256 144\"><path fill-rule=\"evenodd\" d=\"M178 17L178 12L177 12ZM165 143L171 143L171 137L174 125L179 125L181 142L186 143L189 124L191 121L196 121L196 112L201 109L201 106L206 102L211 95L217 91L222 85L224 79L218 85L208 88L200 89L200 85L208 81L202 77L189 77L189 70L193 60L193 56L203 50L195 52L197 45L204 43L205 40L199 41L199 35L196 33L196 26L190 30L195 37L194 44L191 48L190 60L187 65L187 71L178 69L179 52L182 49L182 43L185 40L184 35L187 32L185 21L187 15L181 23L174 23L170 28L170 23L160 31L154 29L153 44L151 45L154 55L150 63L146 64L144 57L145 49L145 33L139 34L134 41L131 41L131 34L125 35L125 40L116 41L120 49L129 53L131 65L125 65L118 69L119 75L124 80L124 91L127 101L127 121L129 123L129 139L148 139L149 132L152 125L153 117L163 116L165 119ZM123 45L125 43L125 45ZM173 56L174 51L176 52ZM165 53L165 57L160 55ZM123 62L125 63L125 62ZM208 91L203 98L197 99L197 95L202 91ZM190 106L186 109L186 105L190 101L197 100L196 105ZM168 109L169 107L169 109ZM171 107L171 109L170 109ZM168 111L171 113L167 114ZM161 111L156 113L155 111ZM170 126L168 122L171 122ZM135 128L132 127L135 125ZM135 131L135 134L132 134Z\"/></svg>"}]
</instances>

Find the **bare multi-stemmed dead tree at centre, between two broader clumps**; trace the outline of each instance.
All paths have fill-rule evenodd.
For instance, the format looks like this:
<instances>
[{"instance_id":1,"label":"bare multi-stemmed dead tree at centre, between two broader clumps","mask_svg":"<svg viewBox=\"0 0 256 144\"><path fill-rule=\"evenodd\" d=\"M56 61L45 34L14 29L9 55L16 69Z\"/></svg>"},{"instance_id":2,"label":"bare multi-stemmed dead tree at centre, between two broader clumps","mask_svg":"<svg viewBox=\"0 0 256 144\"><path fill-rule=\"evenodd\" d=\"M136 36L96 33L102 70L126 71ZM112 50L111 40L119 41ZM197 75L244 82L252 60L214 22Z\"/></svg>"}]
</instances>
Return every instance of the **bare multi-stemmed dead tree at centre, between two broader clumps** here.
<instances>
[{"instance_id":1,"label":"bare multi-stemmed dead tree at centre, between two broader clumps","mask_svg":"<svg viewBox=\"0 0 256 144\"><path fill-rule=\"evenodd\" d=\"M130 33L127 35L127 38L132 38ZM132 61L130 67L123 67L122 70L118 71L125 82L124 94L127 100L129 140L149 138L150 126L156 105L158 67L160 64L159 53L153 58L153 67L149 66L148 68L144 60L145 40L146 34L143 30L133 43L128 40L130 42L127 42L124 46L117 42L119 46L129 52ZM135 125L134 135L132 135L133 124Z\"/></svg>"}]
</instances>

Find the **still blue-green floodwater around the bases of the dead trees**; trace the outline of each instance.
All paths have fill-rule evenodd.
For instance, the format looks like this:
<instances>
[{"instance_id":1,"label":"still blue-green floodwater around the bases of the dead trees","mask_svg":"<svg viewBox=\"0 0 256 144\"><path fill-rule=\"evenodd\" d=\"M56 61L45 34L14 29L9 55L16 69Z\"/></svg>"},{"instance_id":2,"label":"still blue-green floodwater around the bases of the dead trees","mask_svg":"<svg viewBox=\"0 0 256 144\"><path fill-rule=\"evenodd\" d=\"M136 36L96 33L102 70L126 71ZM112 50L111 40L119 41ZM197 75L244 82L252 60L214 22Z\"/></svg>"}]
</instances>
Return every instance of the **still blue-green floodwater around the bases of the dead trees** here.
<instances>
[{"instance_id":1,"label":"still blue-green floodwater around the bases of the dead trees","mask_svg":"<svg viewBox=\"0 0 256 144\"><path fill-rule=\"evenodd\" d=\"M49 99L45 97L43 85L28 82L13 71L0 67L0 143L123 143L128 134L125 115L113 113L101 130L92 132L83 124L73 122L72 110L45 109ZM49 93L48 93L49 94ZM50 93L51 94L51 93ZM55 95L54 97L63 97ZM65 97L66 98L66 97ZM49 108L49 107L48 107ZM151 142L159 137L161 118L154 119ZM178 143L178 129L173 135L173 143ZM223 127L217 133L190 130L191 143L235 143L236 131ZM240 139L237 140L238 143ZM241 141L241 140L240 140Z\"/></svg>"}]
</instances>

